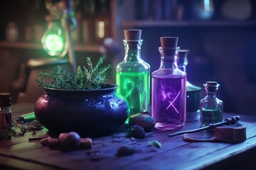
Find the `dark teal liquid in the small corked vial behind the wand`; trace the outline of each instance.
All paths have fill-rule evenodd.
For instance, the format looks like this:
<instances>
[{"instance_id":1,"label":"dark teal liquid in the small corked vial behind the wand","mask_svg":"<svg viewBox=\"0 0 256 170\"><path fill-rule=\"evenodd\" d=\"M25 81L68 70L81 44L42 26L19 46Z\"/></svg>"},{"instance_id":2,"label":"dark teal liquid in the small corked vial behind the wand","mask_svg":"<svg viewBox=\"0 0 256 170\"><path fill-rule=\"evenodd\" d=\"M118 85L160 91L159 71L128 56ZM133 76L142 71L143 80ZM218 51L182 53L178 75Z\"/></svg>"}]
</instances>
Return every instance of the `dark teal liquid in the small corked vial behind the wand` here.
<instances>
[{"instance_id":1,"label":"dark teal liquid in the small corked vial behind the wand","mask_svg":"<svg viewBox=\"0 0 256 170\"><path fill-rule=\"evenodd\" d=\"M218 123L222 121L221 109L206 109L201 111L201 126L207 126L210 123Z\"/></svg>"}]
</instances>

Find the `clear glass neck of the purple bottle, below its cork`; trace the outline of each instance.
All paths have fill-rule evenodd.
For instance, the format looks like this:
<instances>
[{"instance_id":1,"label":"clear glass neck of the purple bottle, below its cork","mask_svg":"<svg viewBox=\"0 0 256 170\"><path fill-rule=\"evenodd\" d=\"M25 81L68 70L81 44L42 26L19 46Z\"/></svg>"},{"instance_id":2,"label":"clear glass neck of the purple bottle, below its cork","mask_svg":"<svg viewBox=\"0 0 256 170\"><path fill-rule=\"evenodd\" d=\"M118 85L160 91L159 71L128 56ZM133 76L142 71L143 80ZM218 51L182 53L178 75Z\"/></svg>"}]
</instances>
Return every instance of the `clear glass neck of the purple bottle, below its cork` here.
<instances>
[{"instance_id":1,"label":"clear glass neck of the purple bottle, below its cork","mask_svg":"<svg viewBox=\"0 0 256 170\"><path fill-rule=\"evenodd\" d=\"M160 69L177 69L177 48L159 47L161 54Z\"/></svg>"}]
</instances>

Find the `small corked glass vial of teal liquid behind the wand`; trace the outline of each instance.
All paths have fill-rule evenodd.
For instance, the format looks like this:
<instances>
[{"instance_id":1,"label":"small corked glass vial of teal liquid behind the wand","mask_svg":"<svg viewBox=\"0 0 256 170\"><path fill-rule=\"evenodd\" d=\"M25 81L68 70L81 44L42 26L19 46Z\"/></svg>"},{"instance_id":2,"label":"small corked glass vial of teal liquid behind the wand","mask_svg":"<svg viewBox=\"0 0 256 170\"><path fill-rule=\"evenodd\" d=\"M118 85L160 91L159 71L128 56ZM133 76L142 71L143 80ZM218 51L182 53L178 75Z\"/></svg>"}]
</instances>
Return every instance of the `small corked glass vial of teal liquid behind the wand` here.
<instances>
[{"instance_id":1,"label":"small corked glass vial of teal liquid behind the wand","mask_svg":"<svg viewBox=\"0 0 256 170\"><path fill-rule=\"evenodd\" d=\"M206 97L200 101L200 126L207 126L210 123L218 123L223 120L223 101L217 98L217 81L207 81L203 84L206 89Z\"/></svg>"}]
</instances>

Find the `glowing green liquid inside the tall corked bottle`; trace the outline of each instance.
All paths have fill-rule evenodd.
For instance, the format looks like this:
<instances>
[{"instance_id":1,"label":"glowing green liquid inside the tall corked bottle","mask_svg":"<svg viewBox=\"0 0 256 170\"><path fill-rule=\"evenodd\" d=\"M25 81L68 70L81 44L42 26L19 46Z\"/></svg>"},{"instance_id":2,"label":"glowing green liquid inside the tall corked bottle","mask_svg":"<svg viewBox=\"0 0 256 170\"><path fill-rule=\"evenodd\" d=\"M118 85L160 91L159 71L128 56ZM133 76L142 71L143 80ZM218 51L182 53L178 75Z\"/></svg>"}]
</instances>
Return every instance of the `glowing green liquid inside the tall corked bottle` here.
<instances>
[{"instance_id":1,"label":"glowing green liquid inside the tall corked bottle","mask_svg":"<svg viewBox=\"0 0 256 170\"><path fill-rule=\"evenodd\" d=\"M149 111L149 73L117 72L117 92L129 102L130 115Z\"/></svg>"}]
</instances>

